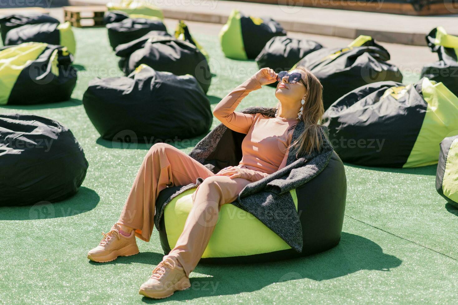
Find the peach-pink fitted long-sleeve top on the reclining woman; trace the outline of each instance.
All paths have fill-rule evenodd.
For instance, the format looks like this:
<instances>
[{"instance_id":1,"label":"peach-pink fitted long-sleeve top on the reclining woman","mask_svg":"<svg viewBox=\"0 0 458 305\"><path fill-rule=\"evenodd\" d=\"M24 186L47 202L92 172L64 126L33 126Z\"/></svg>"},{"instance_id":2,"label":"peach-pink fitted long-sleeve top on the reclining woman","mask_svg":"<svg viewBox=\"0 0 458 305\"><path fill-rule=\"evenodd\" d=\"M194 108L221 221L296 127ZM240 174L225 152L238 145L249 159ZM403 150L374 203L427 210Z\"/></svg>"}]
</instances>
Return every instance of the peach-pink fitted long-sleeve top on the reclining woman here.
<instances>
[{"instance_id":1,"label":"peach-pink fitted long-sleeve top on the reclining woman","mask_svg":"<svg viewBox=\"0 0 458 305\"><path fill-rule=\"evenodd\" d=\"M213 110L225 126L246 136L242 141L242 159L237 167L245 168L246 179L257 181L286 165L294 126L299 119L275 116L267 118L260 113L235 111L240 101L261 84L253 76L226 95Z\"/></svg>"}]
</instances>

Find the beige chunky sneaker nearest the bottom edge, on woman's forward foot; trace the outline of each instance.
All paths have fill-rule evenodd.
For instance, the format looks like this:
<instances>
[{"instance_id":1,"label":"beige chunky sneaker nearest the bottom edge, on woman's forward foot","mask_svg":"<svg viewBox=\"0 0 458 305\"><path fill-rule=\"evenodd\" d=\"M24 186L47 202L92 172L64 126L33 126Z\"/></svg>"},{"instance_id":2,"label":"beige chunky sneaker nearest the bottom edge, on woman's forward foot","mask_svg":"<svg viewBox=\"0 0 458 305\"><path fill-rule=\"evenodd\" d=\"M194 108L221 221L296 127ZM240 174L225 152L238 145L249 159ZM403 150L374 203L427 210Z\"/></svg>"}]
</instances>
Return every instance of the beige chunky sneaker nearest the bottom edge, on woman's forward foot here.
<instances>
[{"instance_id":1,"label":"beige chunky sneaker nearest the bottom edge, on woman's forward foot","mask_svg":"<svg viewBox=\"0 0 458 305\"><path fill-rule=\"evenodd\" d=\"M176 290L185 290L191 287L185 270L178 266L173 256L165 256L153 270L153 275L140 286L139 294L153 299L164 299Z\"/></svg>"}]
</instances>

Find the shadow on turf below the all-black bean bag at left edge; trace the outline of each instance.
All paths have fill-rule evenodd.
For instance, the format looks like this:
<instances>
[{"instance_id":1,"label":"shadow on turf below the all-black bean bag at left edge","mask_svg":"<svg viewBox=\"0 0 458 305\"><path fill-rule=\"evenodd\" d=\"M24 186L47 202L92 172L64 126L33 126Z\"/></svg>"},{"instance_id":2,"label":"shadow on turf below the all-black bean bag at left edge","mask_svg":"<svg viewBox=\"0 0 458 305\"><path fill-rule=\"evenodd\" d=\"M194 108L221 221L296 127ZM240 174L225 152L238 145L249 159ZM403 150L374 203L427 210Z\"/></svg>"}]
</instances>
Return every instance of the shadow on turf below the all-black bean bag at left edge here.
<instances>
[{"instance_id":1,"label":"shadow on turf below the all-black bean bag at left edge","mask_svg":"<svg viewBox=\"0 0 458 305\"><path fill-rule=\"evenodd\" d=\"M42 201L35 205L2 206L0 220L36 220L74 216L92 210L100 197L86 187L80 187L78 192L66 200L55 203Z\"/></svg>"}]
</instances>

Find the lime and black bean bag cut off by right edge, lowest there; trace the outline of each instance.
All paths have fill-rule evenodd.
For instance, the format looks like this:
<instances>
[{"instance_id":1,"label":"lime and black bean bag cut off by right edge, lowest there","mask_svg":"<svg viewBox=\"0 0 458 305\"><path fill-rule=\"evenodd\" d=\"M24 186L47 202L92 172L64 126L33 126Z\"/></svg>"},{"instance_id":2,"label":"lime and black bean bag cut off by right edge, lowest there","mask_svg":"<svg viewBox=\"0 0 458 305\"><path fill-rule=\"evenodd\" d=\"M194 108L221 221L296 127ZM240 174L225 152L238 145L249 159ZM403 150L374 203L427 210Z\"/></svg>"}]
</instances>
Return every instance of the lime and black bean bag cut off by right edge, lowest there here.
<instances>
[{"instance_id":1,"label":"lime and black bean bag cut off by right edge, lowest there","mask_svg":"<svg viewBox=\"0 0 458 305\"><path fill-rule=\"evenodd\" d=\"M436 189L448 203L458 208L458 136L447 137L441 142Z\"/></svg>"}]
</instances>

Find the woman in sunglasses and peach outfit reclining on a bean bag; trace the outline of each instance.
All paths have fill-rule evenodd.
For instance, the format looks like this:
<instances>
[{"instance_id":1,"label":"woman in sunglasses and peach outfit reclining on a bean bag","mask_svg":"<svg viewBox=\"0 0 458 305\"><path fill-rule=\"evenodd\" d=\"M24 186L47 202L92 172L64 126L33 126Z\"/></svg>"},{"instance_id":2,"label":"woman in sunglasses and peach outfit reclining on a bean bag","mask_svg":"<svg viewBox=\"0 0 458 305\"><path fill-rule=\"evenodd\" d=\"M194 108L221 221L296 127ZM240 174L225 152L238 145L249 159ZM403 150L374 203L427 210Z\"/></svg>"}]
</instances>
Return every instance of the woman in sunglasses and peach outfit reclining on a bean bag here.
<instances>
[{"instance_id":1,"label":"woman in sunglasses and peach outfit reclining on a bean bag","mask_svg":"<svg viewBox=\"0 0 458 305\"><path fill-rule=\"evenodd\" d=\"M275 96L279 103L274 117L235 111L252 90L276 80L279 83ZM221 205L233 202L245 185L283 168L290 147L298 147L297 155L320 150L318 124L323 113L322 85L309 70L297 67L276 74L271 68L262 68L226 95L213 110L225 126L246 134L239 165L213 174L179 149L165 143L154 144L136 175L118 222L107 234L103 233L104 238L87 257L103 263L118 256L137 254L135 237L146 242L151 237L158 193L168 185L186 185L202 177L204 180L192 195L193 206L175 247L154 268L139 293L160 299L190 287L189 274L207 247ZM304 121L305 130L291 143L294 127L300 120Z\"/></svg>"}]
</instances>

